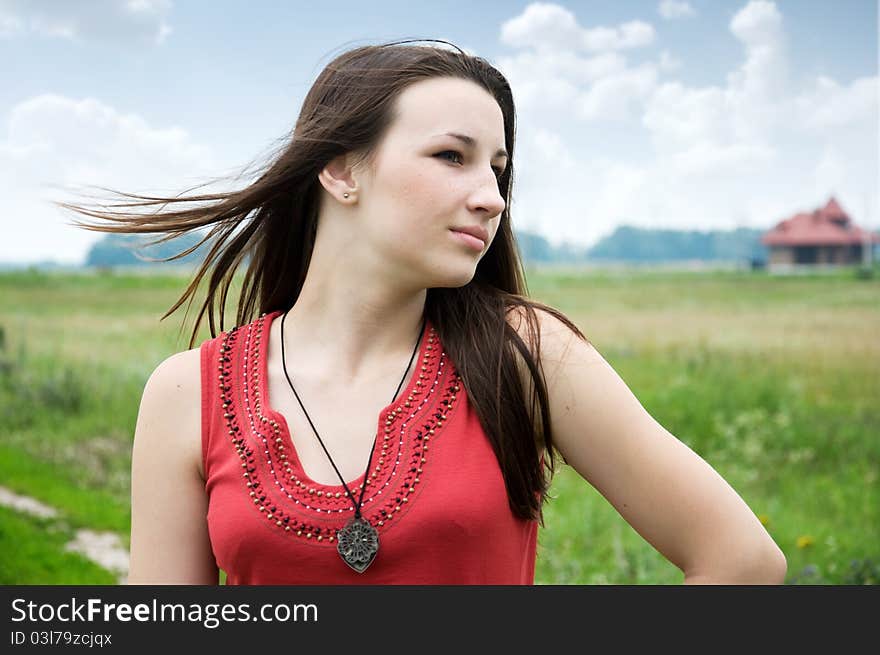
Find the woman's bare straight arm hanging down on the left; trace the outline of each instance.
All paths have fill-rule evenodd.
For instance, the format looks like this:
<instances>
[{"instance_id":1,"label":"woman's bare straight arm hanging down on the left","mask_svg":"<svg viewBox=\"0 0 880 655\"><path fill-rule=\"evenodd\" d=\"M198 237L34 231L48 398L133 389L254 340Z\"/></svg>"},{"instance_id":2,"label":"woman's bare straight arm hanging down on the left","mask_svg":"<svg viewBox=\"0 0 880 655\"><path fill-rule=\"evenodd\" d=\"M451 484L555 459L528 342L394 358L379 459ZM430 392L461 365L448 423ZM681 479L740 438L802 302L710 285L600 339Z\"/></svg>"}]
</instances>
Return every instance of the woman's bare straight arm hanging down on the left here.
<instances>
[{"instance_id":1,"label":"woman's bare straight arm hanging down on the left","mask_svg":"<svg viewBox=\"0 0 880 655\"><path fill-rule=\"evenodd\" d=\"M200 471L198 348L172 355L144 387L131 463L128 584L217 584Z\"/></svg>"}]
</instances>

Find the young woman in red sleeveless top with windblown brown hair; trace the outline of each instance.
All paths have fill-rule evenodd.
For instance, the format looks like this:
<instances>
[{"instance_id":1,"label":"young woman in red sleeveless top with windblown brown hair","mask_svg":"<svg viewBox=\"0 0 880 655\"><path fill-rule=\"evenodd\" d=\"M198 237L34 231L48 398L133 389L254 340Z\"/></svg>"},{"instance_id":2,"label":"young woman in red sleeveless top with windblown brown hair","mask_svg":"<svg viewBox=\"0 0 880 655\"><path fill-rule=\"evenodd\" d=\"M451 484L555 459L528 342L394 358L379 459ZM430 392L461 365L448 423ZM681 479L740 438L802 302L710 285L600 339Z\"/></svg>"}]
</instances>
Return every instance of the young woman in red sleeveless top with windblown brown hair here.
<instances>
[{"instance_id":1,"label":"young woman in red sleeveless top with windblown brown hair","mask_svg":"<svg viewBox=\"0 0 880 655\"><path fill-rule=\"evenodd\" d=\"M505 78L407 43L332 61L240 191L135 196L203 203L146 215L65 205L100 231L212 227L169 312L211 271L190 346L205 313L212 338L141 399L129 583L532 584L559 456L685 583L783 582L737 493L526 297Z\"/></svg>"}]
</instances>

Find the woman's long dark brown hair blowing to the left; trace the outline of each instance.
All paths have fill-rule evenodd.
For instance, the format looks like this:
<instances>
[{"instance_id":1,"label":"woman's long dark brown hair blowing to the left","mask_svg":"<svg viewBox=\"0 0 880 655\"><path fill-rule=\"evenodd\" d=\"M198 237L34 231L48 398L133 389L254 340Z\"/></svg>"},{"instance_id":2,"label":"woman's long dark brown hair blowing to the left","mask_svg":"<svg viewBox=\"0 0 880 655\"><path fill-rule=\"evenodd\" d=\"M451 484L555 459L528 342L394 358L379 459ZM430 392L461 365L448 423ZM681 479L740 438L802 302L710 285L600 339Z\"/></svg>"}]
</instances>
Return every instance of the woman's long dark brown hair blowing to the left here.
<instances>
[{"instance_id":1,"label":"woman's long dark brown hair blowing to the left","mask_svg":"<svg viewBox=\"0 0 880 655\"><path fill-rule=\"evenodd\" d=\"M174 198L120 193L135 201L102 205L101 210L57 204L110 221L109 225L74 221L85 229L164 235L154 243L211 227L197 245L164 260L188 255L205 243L210 245L193 281L162 317L170 316L187 298L191 303L201 280L210 272L207 294L190 337L192 348L205 314L212 337L218 334L215 312L219 313L219 329L224 330L223 309L229 286L243 262L247 268L236 325L244 325L259 314L293 306L305 281L315 243L318 173L341 154L353 153L362 156L361 161L371 161L393 120L393 103L401 91L414 82L435 77L476 82L492 94L504 116L509 160L498 184L506 208L473 280L458 288L428 289L425 311L460 373L468 398L491 441L511 510L524 519L539 519L543 525L543 503L558 453L550 428L535 309L554 315L586 339L561 312L527 297L525 273L510 222L515 109L507 80L486 60L468 55L457 46L453 46L453 51L404 45L407 43L412 41L357 47L333 59L306 95L289 143L263 167L256 181L241 190ZM202 205L146 215L120 211L155 205L164 209L168 204L182 202ZM525 319L529 344L510 325L511 311L519 314L519 320ZM528 376L522 375L523 367ZM529 393L523 385L524 377L530 378L525 385Z\"/></svg>"}]
</instances>

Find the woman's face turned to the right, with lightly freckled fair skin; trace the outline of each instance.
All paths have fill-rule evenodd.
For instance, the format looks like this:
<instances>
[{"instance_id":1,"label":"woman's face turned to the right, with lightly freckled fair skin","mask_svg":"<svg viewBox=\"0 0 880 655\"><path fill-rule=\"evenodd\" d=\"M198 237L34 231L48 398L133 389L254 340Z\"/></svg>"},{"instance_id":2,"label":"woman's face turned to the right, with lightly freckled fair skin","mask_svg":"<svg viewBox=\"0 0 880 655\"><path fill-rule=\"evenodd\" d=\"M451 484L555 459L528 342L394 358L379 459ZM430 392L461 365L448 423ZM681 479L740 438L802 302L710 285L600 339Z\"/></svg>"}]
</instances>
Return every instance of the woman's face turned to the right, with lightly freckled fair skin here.
<instances>
[{"instance_id":1,"label":"woman's face turned to the right, with lightly freckled fair skin","mask_svg":"<svg viewBox=\"0 0 880 655\"><path fill-rule=\"evenodd\" d=\"M358 233L409 282L465 285L504 210L501 108L476 83L455 78L414 83L396 107L372 170L356 177Z\"/></svg>"}]
</instances>

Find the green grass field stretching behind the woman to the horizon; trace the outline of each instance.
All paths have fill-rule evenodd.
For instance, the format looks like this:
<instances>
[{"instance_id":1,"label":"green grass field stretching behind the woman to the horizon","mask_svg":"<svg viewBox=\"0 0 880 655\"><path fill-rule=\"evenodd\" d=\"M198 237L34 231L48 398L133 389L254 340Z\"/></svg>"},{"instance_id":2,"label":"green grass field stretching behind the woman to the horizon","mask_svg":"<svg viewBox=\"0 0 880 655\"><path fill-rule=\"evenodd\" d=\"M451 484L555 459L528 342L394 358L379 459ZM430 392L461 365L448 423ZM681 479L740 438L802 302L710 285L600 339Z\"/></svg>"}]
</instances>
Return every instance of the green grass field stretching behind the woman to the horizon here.
<instances>
[{"instance_id":1,"label":"green grass field stretching behind the woman to the horizon","mask_svg":"<svg viewBox=\"0 0 880 655\"><path fill-rule=\"evenodd\" d=\"M880 277L530 269L528 279L740 493L785 552L787 583L880 581ZM128 543L138 404L156 365L188 348L195 308L183 326L186 306L159 321L188 281L0 274L0 486L59 512L0 506L0 584L114 583L64 544L79 528ZM196 343L209 336L203 325ZM538 584L682 581L571 469L553 496Z\"/></svg>"}]
</instances>

